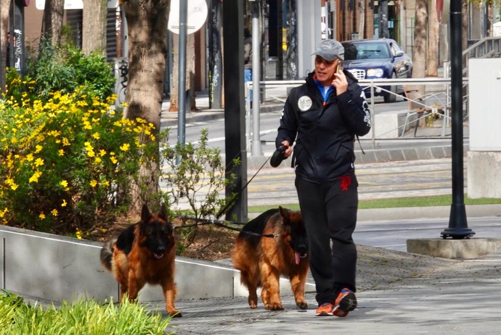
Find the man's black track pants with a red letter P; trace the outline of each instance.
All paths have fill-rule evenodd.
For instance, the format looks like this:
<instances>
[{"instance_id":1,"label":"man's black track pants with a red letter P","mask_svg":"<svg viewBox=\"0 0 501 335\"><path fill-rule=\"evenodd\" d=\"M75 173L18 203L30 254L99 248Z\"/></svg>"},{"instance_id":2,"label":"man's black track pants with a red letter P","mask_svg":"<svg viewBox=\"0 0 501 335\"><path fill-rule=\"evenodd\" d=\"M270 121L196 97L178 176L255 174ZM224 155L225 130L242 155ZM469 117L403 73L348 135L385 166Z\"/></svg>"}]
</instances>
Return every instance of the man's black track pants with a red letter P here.
<instances>
[{"instance_id":1,"label":"man's black track pants with a red letter P","mask_svg":"<svg viewBox=\"0 0 501 335\"><path fill-rule=\"evenodd\" d=\"M356 289L357 248L352 233L357 222L357 187L354 173L320 185L296 178L319 305L334 303L344 287Z\"/></svg>"}]
</instances>

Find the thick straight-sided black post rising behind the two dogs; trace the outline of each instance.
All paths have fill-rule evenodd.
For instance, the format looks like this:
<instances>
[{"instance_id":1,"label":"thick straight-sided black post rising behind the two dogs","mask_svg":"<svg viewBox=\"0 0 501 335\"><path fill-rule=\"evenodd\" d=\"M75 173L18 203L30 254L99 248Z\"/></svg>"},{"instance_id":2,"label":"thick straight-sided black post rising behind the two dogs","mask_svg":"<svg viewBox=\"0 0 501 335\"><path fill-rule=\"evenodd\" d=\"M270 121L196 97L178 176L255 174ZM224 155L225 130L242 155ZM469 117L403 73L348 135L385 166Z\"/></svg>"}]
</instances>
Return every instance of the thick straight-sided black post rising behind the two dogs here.
<instances>
[{"instance_id":1,"label":"thick straight-sided black post rising behind the two dogs","mask_svg":"<svg viewBox=\"0 0 501 335\"><path fill-rule=\"evenodd\" d=\"M247 183L247 151L245 149L245 111L243 107L243 0L223 2L224 62L224 145L226 178L233 173L234 185L226 186L226 196L238 193ZM233 159L240 164L234 165ZM247 221L247 189L226 212L227 220Z\"/></svg>"}]
</instances>

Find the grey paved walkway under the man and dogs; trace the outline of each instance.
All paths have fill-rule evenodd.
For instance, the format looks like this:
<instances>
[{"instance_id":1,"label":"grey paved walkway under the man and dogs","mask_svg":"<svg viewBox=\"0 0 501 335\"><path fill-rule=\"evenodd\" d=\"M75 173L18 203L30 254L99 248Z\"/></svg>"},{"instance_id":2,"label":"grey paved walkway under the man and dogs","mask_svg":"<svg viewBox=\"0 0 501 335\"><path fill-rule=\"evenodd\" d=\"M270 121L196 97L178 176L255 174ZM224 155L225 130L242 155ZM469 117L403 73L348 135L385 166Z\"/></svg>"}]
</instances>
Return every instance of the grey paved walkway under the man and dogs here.
<instances>
[{"instance_id":1,"label":"grey paved walkway under the man and dogs","mask_svg":"<svg viewBox=\"0 0 501 335\"><path fill-rule=\"evenodd\" d=\"M345 318L316 317L282 296L283 311L268 311L246 297L177 301L177 334L495 334L501 321L501 254L450 260L359 245L358 307ZM205 280L210 280L206 278ZM203 282L201 282L203 284ZM163 304L151 305L162 311ZM163 312L165 313L165 312Z\"/></svg>"}]
</instances>

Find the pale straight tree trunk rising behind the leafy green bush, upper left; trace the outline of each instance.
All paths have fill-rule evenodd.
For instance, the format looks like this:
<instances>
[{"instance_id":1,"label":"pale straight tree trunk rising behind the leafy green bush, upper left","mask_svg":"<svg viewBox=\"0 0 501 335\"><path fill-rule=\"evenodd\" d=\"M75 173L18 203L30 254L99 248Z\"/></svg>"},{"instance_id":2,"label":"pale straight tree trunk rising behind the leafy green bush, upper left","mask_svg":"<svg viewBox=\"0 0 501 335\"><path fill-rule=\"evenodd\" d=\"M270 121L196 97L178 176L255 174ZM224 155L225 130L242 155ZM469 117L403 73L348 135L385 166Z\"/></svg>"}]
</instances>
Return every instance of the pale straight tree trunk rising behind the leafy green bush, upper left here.
<instances>
[{"instance_id":1,"label":"pale straight tree trunk rising behind the leafy green bush, upper left","mask_svg":"<svg viewBox=\"0 0 501 335\"><path fill-rule=\"evenodd\" d=\"M82 19L82 51L106 55L106 14L108 0L85 0Z\"/></svg>"}]
</instances>

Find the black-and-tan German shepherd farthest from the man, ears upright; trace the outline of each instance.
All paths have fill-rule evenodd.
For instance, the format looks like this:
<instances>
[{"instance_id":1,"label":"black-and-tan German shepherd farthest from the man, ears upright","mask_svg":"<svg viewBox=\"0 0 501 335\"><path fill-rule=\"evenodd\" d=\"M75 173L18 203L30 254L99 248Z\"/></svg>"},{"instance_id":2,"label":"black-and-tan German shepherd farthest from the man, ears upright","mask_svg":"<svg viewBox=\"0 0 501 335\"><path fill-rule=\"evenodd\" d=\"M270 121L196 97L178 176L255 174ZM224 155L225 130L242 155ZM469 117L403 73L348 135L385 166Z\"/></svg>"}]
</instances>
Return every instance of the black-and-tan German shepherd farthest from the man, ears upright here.
<instances>
[{"instance_id":1,"label":"black-and-tan German shepherd farthest from the man, ears upright","mask_svg":"<svg viewBox=\"0 0 501 335\"><path fill-rule=\"evenodd\" d=\"M179 317L181 313L174 307L175 256L172 223L168 220L163 204L157 215L152 215L148 207L143 205L141 220L130 225L117 239L108 241L101 249L101 263L120 284L120 300L125 293L129 294L130 301L135 300L146 283L160 284L167 312Z\"/></svg>"}]
</instances>

